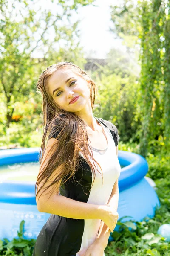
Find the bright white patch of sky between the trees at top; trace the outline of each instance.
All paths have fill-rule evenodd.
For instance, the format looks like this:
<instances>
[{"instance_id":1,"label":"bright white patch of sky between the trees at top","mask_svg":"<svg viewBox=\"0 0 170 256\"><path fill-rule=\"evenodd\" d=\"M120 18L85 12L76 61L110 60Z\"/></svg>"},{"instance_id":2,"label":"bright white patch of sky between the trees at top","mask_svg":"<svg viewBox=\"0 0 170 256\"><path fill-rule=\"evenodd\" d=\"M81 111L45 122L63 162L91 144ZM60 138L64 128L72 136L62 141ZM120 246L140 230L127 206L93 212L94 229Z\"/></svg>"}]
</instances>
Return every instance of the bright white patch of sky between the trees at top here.
<instances>
[{"instance_id":1,"label":"bright white patch of sky between the trees at top","mask_svg":"<svg viewBox=\"0 0 170 256\"><path fill-rule=\"evenodd\" d=\"M79 8L77 17L82 21L78 28L81 32L80 45L86 52L94 58L105 58L106 53L113 47L121 48L125 51L126 47L122 45L122 40L114 39L113 32L109 32L111 22L111 9L109 5L115 4L117 0L96 0L95 6L84 6Z\"/></svg>"}]
</instances>

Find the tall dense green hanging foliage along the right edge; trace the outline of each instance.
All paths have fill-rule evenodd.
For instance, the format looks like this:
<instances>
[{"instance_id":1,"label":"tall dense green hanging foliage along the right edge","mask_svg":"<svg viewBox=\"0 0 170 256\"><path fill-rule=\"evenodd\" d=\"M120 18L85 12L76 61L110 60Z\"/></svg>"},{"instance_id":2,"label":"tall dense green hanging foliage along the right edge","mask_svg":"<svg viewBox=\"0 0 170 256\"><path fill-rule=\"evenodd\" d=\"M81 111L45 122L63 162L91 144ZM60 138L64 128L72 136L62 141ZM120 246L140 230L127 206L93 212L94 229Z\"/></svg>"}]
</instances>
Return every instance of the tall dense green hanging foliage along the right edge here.
<instances>
[{"instance_id":1,"label":"tall dense green hanging foliage along the right edge","mask_svg":"<svg viewBox=\"0 0 170 256\"><path fill-rule=\"evenodd\" d=\"M139 0L136 4L133 0L123 0L122 5L111 7L111 30L124 39L128 52L136 54L140 48L140 54L136 54L141 63L138 99L141 126L137 133L140 154L144 157L150 150L150 140L158 140L162 134L165 150L170 147L169 5L169 0Z\"/></svg>"}]
</instances>

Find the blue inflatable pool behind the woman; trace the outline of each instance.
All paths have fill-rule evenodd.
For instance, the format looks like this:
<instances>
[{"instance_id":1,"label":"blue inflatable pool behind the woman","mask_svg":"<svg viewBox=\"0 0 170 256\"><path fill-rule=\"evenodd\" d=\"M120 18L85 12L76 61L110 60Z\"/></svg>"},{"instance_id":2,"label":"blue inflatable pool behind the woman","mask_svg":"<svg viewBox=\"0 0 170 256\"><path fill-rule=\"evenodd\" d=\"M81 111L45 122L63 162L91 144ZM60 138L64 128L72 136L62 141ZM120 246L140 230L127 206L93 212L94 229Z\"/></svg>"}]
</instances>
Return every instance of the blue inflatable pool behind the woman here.
<instances>
[{"instance_id":1,"label":"blue inflatable pool behind the woman","mask_svg":"<svg viewBox=\"0 0 170 256\"><path fill-rule=\"evenodd\" d=\"M38 162L40 148L17 148L0 151L0 166L13 163ZM142 221L153 218L156 206L160 206L155 189L145 177L147 161L139 154L119 151L119 163L125 166L119 177L119 219ZM0 173L1 175L1 173ZM1 180L1 179L0 179ZM39 212L35 201L35 181L0 182L0 239L10 241L16 237L22 220L24 238L36 239L50 214ZM116 226L115 230L118 230Z\"/></svg>"}]
</instances>

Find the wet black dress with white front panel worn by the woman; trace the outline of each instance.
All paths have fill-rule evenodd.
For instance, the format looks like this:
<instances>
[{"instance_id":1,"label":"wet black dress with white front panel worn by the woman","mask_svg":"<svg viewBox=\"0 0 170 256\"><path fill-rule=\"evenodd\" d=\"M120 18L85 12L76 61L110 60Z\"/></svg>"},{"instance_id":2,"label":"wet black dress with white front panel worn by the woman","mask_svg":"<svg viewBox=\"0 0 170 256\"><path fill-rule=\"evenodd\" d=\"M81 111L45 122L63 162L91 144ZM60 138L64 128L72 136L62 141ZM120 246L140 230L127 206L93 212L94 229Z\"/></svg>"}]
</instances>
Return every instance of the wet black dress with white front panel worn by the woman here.
<instances>
[{"instance_id":1,"label":"wet black dress with white front panel worn by the woman","mask_svg":"<svg viewBox=\"0 0 170 256\"><path fill-rule=\"evenodd\" d=\"M107 204L113 185L120 175L121 167L116 155L119 135L116 126L111 122L102 118L96 120L102 125L108 142L105 149L92 147L93 156L102 167L103 184L101 174L96 171L91 189L93 173L80 152L80 167L74 180L68 180L59 192L77 201L104 205ZM81 184L75 180L79 180ZM98 235L100 223L99 219L73 219L51 214L37 236L33 256L84 256Z\"/></svg>"}]
</instances>

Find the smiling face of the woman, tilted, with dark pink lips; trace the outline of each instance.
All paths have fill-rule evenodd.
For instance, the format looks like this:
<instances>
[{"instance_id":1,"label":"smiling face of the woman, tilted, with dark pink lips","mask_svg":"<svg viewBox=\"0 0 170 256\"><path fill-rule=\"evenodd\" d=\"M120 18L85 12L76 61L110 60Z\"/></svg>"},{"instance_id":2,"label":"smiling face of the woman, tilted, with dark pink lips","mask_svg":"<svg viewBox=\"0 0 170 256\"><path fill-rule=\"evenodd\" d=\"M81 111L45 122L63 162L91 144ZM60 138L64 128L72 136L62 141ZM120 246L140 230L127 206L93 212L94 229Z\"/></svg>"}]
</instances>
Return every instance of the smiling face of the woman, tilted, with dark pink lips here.
<instances>
[{"instance_id":1,"label":"smiling face of the woman, tilted, with dark pink lips","mask_svg":"<svg viewBox=\"0 0 170 256\"><path fill-rule=\"evenodd\" d=\"M72 69L57 70L48 78L48 88L59 108L68 112L78 112L84 108L91 109L90 81L86 81ZM71 99L79 99L70 104Z\"/></svg>"}]
</instances>

